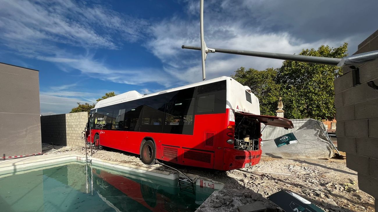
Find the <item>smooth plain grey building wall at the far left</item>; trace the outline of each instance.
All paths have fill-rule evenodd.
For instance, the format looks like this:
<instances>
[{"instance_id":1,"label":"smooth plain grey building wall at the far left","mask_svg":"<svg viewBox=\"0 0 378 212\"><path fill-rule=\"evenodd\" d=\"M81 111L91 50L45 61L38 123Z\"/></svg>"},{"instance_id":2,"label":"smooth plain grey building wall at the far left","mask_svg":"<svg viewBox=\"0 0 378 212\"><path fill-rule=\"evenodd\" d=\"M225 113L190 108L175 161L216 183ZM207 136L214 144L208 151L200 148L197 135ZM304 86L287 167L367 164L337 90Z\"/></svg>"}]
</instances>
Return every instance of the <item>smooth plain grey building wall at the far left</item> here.
<instances>
[{"instance_id":1,"label":"smooth plain grey building wall at the far left","mask_svg":"<svg viewBox=\"0 0 378 212\"><path fill-rule=\"evenodd\" d=\"M39 72L0 63L0 154L42 151Z\"/></svg>"}]
</instances>

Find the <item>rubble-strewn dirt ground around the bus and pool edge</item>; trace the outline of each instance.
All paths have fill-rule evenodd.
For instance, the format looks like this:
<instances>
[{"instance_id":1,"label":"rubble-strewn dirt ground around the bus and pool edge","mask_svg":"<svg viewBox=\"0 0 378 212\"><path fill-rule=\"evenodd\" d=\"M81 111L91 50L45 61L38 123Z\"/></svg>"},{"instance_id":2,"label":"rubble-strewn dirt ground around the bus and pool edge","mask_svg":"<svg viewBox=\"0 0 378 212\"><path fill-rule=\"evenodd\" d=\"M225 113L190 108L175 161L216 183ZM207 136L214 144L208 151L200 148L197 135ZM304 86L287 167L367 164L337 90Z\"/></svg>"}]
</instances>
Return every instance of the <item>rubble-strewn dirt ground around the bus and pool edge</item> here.
<instances>
[{"instance_id":1,"label":"rubble-strewn dirt ground around the bus and pool edge","mask_svg":"<svg viewBox=\"0 0 378 212\"><path fill-rule=\"evenodd\" d=\"M79 147L64 147L60 151L85 155L85 150ZM93 157L104 160L167 168L161 164L145 165L138 155L126 152L112 149L94 152ZM209 197L206 204L197 211L237 211L238 205L255 201L264 202L268 211L276 211L276 206L265 198L279 190L290 190L327 212L374 211L374 198L358 189L357 172L348 169L345 160L263 157L256 166L227 172L169 165L183 173L196 174L225 184L222 190Z\"/></svg>"}]
</instances>

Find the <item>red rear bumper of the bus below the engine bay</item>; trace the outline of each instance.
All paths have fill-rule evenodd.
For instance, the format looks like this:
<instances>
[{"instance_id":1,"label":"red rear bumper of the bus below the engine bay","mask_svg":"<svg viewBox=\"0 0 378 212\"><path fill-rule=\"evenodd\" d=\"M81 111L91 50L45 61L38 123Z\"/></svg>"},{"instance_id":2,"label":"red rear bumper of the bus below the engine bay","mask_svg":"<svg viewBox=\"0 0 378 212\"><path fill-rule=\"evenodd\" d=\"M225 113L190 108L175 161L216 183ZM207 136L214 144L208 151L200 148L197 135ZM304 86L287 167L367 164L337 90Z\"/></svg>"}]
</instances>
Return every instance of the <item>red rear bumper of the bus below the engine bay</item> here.
<instances>
[{"instance_id":1,"label":"red rear bumper of the bus below the engine bay","mask_svg":"<svg viewBox=\"0 0 378 212\"><path fill-rule=\"evenodd\" d=\"M260 161L261 153L261 149L256 151L245 151L225 148L223 157L223 170L228 171L232 169L241 169L244 167L256 165Z\"/></svg>"}]
</instances>

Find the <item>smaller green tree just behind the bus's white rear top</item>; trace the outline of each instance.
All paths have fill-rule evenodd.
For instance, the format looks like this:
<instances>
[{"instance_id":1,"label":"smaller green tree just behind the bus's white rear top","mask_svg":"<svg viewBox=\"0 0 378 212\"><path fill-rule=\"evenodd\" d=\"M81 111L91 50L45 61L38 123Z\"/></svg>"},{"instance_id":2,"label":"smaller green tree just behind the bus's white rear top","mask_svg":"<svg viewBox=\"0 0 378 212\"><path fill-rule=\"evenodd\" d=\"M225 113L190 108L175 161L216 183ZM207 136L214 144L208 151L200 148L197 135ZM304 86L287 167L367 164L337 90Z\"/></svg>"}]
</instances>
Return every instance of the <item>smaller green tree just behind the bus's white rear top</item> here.
<instances>
[{"instance_id":1,"label":"smaller green tree just behind the bus's white rear top","mask_svg":"<svg viewBox=\"0 0 378 212\"><path fill-rule=\"evenodd\" d=\"M244 67L240 67L231 77L251 88L252 93L259 98L261 114L275 115L280 89L280 85L275 82L277 78L276 69L268 68L258 71L253 68L246 70Z\"/></svg>"}]
</instances>

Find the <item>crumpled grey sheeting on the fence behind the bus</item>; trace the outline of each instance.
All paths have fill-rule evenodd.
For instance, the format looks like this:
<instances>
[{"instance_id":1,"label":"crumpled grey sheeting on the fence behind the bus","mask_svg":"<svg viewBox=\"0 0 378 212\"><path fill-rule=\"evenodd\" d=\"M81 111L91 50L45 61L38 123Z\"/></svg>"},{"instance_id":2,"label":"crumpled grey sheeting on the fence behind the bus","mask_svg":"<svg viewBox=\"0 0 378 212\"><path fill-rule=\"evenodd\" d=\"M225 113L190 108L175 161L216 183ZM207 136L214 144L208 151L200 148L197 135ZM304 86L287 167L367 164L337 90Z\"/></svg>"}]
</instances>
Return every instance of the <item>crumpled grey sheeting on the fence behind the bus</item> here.
<instances>
[{"instance_id":1,"label":"crumpled grey sheeting on the fence behind the bus","mask_svg":"<svg viewBox=\"0 0 378 212\"><path fill-rule=\"evenodd\" d=\"M262 155L275 158L331 158L335 156L324 124L314 119L292 119L294 128L283 129L261 124ZM293 133L298 143L276 146L274 139Z\"/></svg>"}]
</instances>

